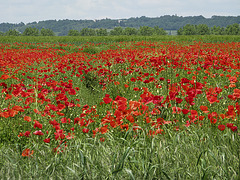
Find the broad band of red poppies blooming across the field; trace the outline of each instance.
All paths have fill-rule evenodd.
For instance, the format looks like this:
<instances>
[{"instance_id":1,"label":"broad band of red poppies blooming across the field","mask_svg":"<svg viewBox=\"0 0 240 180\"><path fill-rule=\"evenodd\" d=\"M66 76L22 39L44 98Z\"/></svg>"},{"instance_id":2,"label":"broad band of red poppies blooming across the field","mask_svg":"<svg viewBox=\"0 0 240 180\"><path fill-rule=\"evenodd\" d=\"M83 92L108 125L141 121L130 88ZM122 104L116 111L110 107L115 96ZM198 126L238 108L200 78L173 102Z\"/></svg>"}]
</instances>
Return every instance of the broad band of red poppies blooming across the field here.
<instances>
[{"instance_id":1,"label":"broad band of red poppies blooming across the field","mask_svg":"<svg viewBox=\"0 0 240 180\"><path fill-rule=\"evenodd\" d=\"M56 151L79 134L104 141L110 129L155 136L163 126L180 131L209 123L238 130L240 43L120 44L92 55L64 50L69 44L1 44L0 118L18 119L23 140L57 141ZM91 106L83 104L87 88L99 97Z\"/></svg>"}]
</instances>

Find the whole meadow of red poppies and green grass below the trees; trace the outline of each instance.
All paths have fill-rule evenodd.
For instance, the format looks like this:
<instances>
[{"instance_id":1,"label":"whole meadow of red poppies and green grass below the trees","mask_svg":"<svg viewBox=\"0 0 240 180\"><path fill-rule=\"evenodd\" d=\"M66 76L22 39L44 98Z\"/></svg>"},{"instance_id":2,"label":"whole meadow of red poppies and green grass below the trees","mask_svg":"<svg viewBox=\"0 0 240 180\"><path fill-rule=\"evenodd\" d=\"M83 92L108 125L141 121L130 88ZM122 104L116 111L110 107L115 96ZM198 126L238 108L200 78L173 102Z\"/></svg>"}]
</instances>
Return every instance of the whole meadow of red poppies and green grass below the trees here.
<instances>
[{"instance_id":1,"label":"whole meadow of red poppies and green grass below the trees","mask_svg":"<svg viewBox=\"0 0 240 180\"><path fill-rule=\"evenodd\" d=\"M240 37L1 37L1 179L239 179Z\"/></svg>"}]
</instances>

